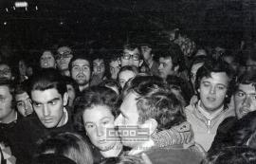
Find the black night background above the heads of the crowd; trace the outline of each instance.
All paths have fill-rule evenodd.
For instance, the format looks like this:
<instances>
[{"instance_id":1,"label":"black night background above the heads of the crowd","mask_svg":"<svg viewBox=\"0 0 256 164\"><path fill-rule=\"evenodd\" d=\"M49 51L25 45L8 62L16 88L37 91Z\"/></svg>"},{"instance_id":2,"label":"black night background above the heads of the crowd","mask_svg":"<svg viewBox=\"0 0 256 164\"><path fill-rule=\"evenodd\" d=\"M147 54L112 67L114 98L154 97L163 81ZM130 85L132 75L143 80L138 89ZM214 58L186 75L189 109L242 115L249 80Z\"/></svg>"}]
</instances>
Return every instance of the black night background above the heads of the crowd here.
<instances>
[{"instance_id":1,"label":"black night background above the heads of the crowd","mask_svg":"<svg viewBox=\"0 0 256 164\"><path fill-rule=\"evenodd\" d=\"M0 0L0 44L14 50L83 49L92 41L117 48L144 36L161 42L160 31L174 27L197 46L254 41L254 0L27 0L27 10L14 2Z\"/></svg>"}]
</instances>

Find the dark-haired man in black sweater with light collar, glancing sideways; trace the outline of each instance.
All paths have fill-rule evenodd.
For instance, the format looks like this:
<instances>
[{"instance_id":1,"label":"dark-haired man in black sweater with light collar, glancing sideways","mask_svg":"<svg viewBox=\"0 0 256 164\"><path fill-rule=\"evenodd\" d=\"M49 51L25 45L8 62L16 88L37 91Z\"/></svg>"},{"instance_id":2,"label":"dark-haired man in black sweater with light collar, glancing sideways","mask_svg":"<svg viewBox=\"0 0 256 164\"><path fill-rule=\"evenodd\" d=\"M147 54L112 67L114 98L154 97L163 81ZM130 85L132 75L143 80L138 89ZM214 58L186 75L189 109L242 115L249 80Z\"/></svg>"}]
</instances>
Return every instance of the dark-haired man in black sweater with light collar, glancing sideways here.
<instances>
[{"instance_id":1,"label":"dark-haired man in black sweater with light collar, glancing sideways","mask_svg":"<svg viewBox=\"0 0 256 164\"><path fill-rule=\"evenodd\" d=\"M50 133L73 132L71 114L64 107L68 96L63 76L53 68L47 68L30 81L29 94L35 115L24 118L16 127L11 139L13 154L18 162L29 163L37 148L37 142Z\"/></svg>"}]
</instances>

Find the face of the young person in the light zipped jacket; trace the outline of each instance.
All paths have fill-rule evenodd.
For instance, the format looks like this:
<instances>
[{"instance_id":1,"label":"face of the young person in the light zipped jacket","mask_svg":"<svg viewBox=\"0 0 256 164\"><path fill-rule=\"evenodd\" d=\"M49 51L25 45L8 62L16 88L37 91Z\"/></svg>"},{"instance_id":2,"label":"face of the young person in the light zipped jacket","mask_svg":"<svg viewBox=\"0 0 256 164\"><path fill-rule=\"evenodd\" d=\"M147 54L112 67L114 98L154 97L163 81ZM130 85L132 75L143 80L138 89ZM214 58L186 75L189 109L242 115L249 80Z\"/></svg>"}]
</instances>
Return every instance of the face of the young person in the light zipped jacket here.
<instances>
[{"instance_id":1,"label":"face of the young person in the light zipped jacket","mask_svg":"<svg viewBox=\"0 0 256 164\"><path fill-rule=\"evenodd\" d=\"M199 86L201 107L214 112L223 104L228 91L229 77L225 72L210 74L210 78L202 78Z\"/></svg>"}]
</instances>

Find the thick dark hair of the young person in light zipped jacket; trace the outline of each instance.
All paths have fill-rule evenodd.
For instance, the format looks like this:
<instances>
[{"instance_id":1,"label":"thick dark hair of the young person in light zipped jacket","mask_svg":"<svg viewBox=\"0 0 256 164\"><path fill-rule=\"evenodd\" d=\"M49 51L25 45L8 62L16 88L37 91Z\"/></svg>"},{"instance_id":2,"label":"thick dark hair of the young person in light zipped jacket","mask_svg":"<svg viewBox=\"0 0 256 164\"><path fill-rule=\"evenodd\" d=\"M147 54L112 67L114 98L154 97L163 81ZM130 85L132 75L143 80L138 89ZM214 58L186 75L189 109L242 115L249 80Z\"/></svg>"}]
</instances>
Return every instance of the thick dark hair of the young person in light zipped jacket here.
<instances>
[{"instance_id":1,"label":"thick dark hair of the young person in light zipped jacket","mask_svg":"<svg viewBox=\"0 0 256 164\"><path fill-rule=\"evenodd\" d=\"M226 62L224 62L221 59L217 60L209 60L206 61L196 72L196 78L195 78L195 90L198 93L198 88L200 87L200 83L203 78L210 78L211 73L226 73L227 76L229 77L229 86L228 86L228 91L227 91L227 96L225 98L225 105L229 103L230 96L232 95L232 87L235 82L234 79L234 72L233 69L230 67L230 65Z\"/></svg>"}]
</instances>

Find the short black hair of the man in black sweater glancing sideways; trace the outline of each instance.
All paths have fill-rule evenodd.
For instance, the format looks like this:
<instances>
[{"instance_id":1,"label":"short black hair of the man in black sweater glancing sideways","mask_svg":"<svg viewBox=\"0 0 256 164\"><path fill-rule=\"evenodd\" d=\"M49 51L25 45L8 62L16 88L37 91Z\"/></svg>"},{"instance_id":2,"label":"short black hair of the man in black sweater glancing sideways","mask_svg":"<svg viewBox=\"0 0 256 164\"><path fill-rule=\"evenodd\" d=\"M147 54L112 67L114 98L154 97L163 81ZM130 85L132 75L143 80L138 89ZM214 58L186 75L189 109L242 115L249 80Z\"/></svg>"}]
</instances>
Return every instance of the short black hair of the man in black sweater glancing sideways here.
<instances>
[{"instance_id":1,"label":"short black hair of the man in black sweater glancing sideways","mask_svg":"<svg viewBox=\"0 0 256 164\"><path fill-rule=\"evenodd\" d=\"M32 76L29 83L29 95L34 90L45 91L52 88L64 96L66 92L64 77L54 68L42 69Z\"/></svg>"}]
</instances>

